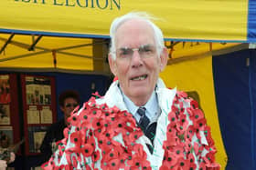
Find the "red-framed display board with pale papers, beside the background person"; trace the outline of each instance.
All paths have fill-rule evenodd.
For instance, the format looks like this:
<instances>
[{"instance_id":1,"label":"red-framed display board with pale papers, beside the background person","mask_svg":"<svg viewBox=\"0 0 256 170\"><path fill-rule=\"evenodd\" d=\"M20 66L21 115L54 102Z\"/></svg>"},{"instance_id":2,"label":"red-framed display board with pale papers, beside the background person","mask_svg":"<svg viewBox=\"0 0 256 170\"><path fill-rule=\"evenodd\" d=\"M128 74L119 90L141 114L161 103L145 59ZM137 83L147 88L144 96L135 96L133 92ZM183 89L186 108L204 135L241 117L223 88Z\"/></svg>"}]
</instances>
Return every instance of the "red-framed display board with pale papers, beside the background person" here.
<instances>
[{"instance_id":1,"label":"red-framed display board with pale papers, beside the background person","mask_svg":"<svg viewBox=\"0 0 256 170\"><path fill-rule=\"evenodd\" d=\"M39 154L48 126L57 120L55 79L21 75L26 155Z\"/></svg>"}]
</instances>

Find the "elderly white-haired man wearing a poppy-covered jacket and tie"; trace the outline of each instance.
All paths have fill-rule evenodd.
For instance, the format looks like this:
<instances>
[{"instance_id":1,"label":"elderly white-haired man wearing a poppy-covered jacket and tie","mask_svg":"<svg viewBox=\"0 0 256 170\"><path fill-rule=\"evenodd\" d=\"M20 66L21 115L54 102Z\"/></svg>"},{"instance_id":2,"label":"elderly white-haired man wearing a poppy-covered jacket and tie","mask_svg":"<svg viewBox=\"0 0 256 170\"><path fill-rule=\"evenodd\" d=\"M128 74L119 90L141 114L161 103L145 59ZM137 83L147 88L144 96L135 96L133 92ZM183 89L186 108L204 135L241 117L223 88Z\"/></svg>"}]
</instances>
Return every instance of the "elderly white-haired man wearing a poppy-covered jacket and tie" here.
<instances>
[{"instance_id":1,"label":"elderly white-haired man wearing a poppy-covered jacket and tie","mask_svg":"<svg viewBox=\"0 0 256 170\"><path fill-rule=\"evenodd\" d=\"M109 64L118 80L83 105L45 169L219 169L197 102L165 87L162 31L144 13L112 22Z\"/></svg>"}]
</instances>

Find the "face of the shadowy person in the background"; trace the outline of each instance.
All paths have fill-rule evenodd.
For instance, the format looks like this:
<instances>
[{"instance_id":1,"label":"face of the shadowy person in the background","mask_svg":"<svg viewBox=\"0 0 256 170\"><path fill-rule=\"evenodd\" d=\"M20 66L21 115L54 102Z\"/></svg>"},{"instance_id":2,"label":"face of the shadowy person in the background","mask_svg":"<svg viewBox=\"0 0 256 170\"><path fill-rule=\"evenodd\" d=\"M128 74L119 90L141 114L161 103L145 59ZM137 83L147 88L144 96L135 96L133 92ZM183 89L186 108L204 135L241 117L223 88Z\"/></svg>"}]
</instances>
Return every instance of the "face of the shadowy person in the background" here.
<instances>
[{"instance_id":1,"label":"face of the shadowy person in the background","mask_svg":"<svg viewBox=\"0 0 256 170\"><path fill-rule=\"evenodd\" d=\"M78 106L78 102L74 98L66 98L64 101L64 105L60 106L60 110L64 114L65 122L67 123L67 119L69 118L71 112Z\"/></svg>"}]
</instances>

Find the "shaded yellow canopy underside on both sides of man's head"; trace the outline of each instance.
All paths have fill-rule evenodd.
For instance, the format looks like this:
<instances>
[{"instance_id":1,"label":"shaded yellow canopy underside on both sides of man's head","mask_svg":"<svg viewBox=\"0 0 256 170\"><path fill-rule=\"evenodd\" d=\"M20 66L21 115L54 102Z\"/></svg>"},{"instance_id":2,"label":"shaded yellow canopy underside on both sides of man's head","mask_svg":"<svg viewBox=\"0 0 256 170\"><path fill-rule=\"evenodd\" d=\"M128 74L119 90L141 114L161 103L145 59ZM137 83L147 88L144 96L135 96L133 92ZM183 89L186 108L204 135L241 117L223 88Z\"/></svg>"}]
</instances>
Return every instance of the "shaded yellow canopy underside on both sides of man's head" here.
<instances>
[{"instance_id":1,"label":"shaded yellow canopy underside on both sides of man's head","mask_svg":"<svg viewBox=\"0 0 256 170\"><path fill-rule=\"evenodd\" d=\"M201 42L165 42L165 45L169 49L169 65L195 59L198 55L228 53L240 46ZM106 62L108 41L104 39L0 34L0 47L2 70L37 69L110 74Z\"/></svg>"}]
</instances>

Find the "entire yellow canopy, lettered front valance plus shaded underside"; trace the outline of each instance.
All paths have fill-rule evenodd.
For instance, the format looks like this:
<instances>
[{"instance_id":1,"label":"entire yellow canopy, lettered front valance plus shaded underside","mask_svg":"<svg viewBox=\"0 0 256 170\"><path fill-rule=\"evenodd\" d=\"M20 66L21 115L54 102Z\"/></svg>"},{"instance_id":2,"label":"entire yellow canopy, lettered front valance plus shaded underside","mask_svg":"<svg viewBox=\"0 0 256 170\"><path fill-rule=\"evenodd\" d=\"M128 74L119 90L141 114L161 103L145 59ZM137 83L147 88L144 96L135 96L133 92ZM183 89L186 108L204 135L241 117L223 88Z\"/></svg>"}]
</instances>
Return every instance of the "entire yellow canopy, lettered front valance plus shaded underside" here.
<instances>
[{"instance_id":1,"label":"entire yellow canopy, lettered front valance plus shaded underside","mask_svg":"<svg viewBox=\"0 0 256 170\"><path fill-rule=\"evenodd\" d=\"M184 48L181 42L246 41L248 5L247 0L2 0L0 68L109 74L108 41L90 38L109 38L112 19L131 11L159 18L155 23L165 40L177 44L169 45L170 56L209 52L226 45L191 43Z\"/></svg>"}]
</instances>

